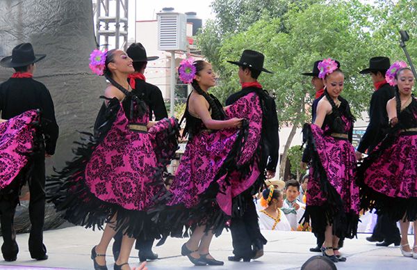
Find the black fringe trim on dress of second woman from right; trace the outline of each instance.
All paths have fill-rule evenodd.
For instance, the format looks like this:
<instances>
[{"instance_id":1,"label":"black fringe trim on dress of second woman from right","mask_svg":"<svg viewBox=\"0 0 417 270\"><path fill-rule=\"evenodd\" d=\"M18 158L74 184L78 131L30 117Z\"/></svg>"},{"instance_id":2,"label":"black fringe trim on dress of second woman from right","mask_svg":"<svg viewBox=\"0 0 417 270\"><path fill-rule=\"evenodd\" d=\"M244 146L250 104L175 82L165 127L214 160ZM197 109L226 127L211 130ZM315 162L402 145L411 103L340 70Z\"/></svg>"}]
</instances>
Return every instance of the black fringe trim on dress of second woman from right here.
<instances>
[{"instance_id":1,"label":"black fringe trim on dress of second woman from right","mask_svg":"<svg viewBox=\"0 0 417 270\"><path fill-rule=\"evenodd\" d=\"M323 168L320 157L318 156L316 143L311 132L311 126L305 124L303 127L303 141L307 141L309 156L311 157L311 167L313 168L314 178L320 181L320 190L327 198L323 205L306 205L306 211L300 222L311 222L312 232L325 232L327 225L332 225L332 233L339 238L356 237L359 222L359 215L344 211L341 196L334 189L329 180L325 168Z\"/></svg>"}]
</instances>

